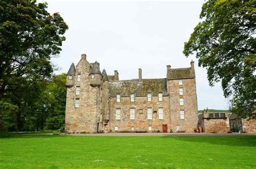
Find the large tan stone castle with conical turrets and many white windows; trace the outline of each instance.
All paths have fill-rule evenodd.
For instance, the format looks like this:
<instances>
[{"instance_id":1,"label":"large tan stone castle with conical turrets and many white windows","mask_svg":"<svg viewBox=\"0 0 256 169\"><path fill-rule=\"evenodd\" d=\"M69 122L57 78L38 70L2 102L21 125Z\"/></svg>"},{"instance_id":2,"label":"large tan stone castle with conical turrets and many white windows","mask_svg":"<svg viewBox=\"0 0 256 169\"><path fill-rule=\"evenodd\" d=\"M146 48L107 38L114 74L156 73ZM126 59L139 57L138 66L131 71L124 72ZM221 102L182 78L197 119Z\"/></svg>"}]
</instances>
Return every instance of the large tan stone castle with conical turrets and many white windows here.
<instances>
[{"instance_id":1,"label":"large tan stone castle with conical turrets and many white windows","mask_svg":"<svg viewBox=\"0 0 256 169\"><path fill-rule=\"evenodd\" d=\"M86 55L66 76L66 132L194 132L198 126L196 74L172 69L166 78L119 80Z\"/></svg>"}]
</instances>

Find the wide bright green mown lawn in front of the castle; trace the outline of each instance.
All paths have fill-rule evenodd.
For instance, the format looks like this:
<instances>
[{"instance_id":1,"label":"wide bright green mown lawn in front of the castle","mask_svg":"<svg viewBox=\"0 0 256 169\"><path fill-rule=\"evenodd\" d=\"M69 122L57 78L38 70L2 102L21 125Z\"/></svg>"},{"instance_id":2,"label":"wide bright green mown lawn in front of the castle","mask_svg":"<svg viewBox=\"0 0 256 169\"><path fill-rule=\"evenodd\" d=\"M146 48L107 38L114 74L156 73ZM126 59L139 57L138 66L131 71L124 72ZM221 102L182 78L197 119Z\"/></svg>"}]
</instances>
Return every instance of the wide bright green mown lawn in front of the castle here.
<instances>
[{"instance_id":1,"label":"wide bright green mown lawn in front of the castle","mask_svg":"<svg viewBox=\"0 0 256 169\"><path fill-rule=\"evenodd\" d=\"M256 168L256 136L0 138L0 168Z\"/></svg>"}]
</instances>

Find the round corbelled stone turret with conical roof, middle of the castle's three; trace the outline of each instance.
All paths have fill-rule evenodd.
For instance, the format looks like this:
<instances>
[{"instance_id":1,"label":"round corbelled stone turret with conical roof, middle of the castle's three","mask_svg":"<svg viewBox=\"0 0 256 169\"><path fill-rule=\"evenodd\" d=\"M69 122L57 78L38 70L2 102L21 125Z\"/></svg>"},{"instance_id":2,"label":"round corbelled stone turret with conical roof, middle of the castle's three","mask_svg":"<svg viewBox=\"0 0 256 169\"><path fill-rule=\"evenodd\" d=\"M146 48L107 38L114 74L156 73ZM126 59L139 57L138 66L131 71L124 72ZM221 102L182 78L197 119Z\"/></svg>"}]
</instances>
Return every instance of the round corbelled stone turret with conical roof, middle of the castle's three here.
<instances>
[{"instance_id":1,"label":"round corbelled stone turret with conical roof, middle of the castle's three","mask_svg":"<svg viewBox=\"0 0 256 169\"><path fill-rule=\"evenodd\" d=\"M89 77L91 86L100 86L102 80L102 73L99 70L99 63L97 61L92 64Z\"/></svg>"}]
</instances>

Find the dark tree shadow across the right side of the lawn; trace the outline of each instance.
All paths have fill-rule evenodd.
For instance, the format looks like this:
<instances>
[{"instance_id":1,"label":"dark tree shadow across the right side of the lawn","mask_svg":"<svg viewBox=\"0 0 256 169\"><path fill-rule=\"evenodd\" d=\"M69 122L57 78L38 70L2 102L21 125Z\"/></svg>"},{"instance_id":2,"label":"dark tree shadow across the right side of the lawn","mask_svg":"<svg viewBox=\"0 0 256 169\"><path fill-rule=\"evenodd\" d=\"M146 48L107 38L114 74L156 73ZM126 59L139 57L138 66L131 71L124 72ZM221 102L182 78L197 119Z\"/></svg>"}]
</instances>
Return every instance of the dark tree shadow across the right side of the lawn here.
<instances>
[{"instance_id":1,"label":"dark tree shadow across the right side of the lawn","mask_svg":"<svg viewBox=\"0 0 256 169\"><path fill-rule=\"evenodd\" d=\"M192 143L207 143L212 145L227 145L239 147L256 147L256 136L177 136L177 137L161 137L163 139L176 139L179 141L188 141Z\"/></svg>"}]
</instances>

